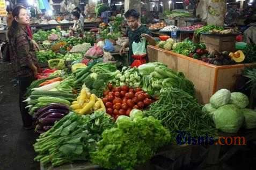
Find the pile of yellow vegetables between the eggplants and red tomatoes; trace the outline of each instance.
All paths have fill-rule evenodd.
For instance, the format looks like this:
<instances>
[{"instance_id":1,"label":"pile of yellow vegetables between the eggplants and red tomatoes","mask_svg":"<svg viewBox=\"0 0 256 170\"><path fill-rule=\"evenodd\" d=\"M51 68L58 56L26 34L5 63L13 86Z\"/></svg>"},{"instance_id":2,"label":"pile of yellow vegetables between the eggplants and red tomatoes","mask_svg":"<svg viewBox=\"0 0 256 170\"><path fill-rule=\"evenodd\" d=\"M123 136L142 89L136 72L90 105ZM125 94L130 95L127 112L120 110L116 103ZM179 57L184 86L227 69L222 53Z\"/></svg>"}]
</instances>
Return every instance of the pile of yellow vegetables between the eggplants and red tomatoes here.
<instances>
[{"instance_id":1,"label":"pile of yellow vegetables between the eggplants and red tomatoes","mask_svg":"<svg viewBox=\"0 0 256 170\"><path fill-rule=\"evenodd\" d=\"M94 111L106 111L103 101L96 95L91 94L90 89L83 85L83 88L77 97L77 101L72 102L70 106L78 114L90 114Z\"/></svg>"}]
</instances>

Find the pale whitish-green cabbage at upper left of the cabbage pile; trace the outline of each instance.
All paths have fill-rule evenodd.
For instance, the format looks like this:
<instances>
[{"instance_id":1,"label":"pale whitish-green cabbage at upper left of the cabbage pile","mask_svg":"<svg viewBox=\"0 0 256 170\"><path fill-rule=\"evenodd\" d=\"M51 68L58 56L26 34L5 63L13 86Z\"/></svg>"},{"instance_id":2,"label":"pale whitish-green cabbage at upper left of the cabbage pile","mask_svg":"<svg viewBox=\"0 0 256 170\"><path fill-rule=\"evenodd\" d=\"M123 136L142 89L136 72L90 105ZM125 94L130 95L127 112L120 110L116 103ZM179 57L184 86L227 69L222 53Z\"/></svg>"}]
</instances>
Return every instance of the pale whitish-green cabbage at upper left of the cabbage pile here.
<instances>
[{"instance_id":1,"label":"pale whitish-green cabbage at upper left of the cabbage pile","mask_svg":"<svg viewBox=\"0 0 256 170\"><path fill-rule=\"evenodd\" d=\"M225 104L228 104L230 101L231 93L227 89L221 89L215 92L210 98L210 104L213 105L216 109Z\"/></svg>"}]
</instances>

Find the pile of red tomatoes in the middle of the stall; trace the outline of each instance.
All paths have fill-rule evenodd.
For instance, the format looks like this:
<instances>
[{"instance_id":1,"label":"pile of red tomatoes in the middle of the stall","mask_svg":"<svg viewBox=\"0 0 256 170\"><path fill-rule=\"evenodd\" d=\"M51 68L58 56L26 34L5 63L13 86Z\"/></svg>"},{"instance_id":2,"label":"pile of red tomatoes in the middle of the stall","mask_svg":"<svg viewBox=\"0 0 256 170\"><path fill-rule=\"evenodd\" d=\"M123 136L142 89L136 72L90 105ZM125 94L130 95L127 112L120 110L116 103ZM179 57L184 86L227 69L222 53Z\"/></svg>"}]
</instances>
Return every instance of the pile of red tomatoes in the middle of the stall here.
<instances>
[{"instance_id":1,"label":"pile of red tomatoes in the middle of the stall","mask_svg":"<svg viewBox=\"0 0 256 170\"><path fill-rule=\"evenodd\" d=\"M108 84L108 90L103 95L106 112L114 118L129 115L133 109L144 109L153 102L150 95L141 88L133 89L128 86L112 87L112 84Z\"/></svg>"}]
</instances>

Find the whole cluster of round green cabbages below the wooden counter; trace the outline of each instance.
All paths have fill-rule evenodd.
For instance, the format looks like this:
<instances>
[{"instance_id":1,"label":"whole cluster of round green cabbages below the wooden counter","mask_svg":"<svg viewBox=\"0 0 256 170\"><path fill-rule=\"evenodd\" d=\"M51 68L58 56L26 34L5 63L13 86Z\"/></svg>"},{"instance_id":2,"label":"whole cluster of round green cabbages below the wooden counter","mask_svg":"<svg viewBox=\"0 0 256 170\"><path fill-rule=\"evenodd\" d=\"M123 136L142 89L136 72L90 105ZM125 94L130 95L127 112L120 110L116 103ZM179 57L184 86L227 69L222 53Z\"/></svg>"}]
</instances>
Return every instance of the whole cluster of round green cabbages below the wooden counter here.
<instances>
[{"instance_id":1,"label":"whole cluster of round green cabbages below the wooden counter","mask_svg":"<svg viewBox=\"0 0 256 170\"><path fill-rule=\"evenodd\" d=\"M211 96L210 103L202 111L213 117L217 129L225 133L237 133L241 127L256 127L256 112L245 109L248 104L246 95L221 89Z\"/></svg>"}]
</instances>

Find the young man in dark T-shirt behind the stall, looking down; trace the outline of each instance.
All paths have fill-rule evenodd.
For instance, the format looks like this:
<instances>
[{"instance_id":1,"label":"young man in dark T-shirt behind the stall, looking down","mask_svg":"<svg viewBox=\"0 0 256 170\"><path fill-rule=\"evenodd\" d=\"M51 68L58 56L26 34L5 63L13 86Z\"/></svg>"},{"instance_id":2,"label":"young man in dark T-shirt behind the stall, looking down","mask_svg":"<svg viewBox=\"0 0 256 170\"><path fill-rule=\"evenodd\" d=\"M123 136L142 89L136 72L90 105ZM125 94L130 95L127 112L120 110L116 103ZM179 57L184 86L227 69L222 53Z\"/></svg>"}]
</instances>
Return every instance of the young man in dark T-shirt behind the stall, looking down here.
<instances>
[{"instance_id":1,"label":"young man in dark T-shirt behind the stall, looking down","mask_svg":"<svg viewBox=\"0 0 256 170\"><path fill-rule=\"evenodd\" d=\"M126 32L126 36L128 36L129 42L123 45L123 47L120 49L120 55L122 55L122 53L125 52L125 49L129 47L128 60L129 65L131 65L134 61L134 59L131 58L131 56L133 55L133 42L140 42L142 37L145 37L150 45L156 45L156 41L151 36L149 29L141 25L140 21L138 20L140 18L140 13L138 13L136 10L128 10L125 13L125 18L129 26Z\"/></svg>"}]
</instances>

